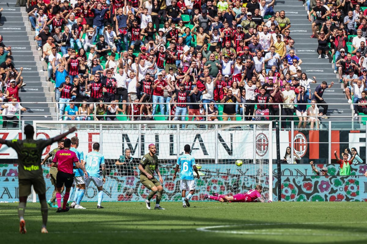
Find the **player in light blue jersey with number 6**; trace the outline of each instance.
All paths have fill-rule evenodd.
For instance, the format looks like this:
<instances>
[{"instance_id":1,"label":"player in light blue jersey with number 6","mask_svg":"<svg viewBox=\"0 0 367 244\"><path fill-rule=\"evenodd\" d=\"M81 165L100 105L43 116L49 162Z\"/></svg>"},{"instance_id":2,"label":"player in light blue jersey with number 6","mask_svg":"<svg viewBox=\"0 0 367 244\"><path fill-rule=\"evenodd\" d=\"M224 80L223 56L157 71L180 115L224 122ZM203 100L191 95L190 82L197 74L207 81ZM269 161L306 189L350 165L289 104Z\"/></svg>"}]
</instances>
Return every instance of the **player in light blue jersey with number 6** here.
<instances>
[{"instance_id":1,"label":"player in light blue jersey with number 6","mask_svg":"<svg viewBox=\"0 0 367 244\"><path fill-rule=\"evenodd\" d=\"M178 169L180 169L180 189L182 190L182 204L183 207L190 207L189 200L192 198L192 195L194 195L196 187L193 170L195 170L197 179L199 179L200 176L195 165L195 158L190 155L190 145L186 144L183 149L185 150L185 154L180 155L177 159L177 165L175 168L175 172L173 173L173 180L176 179L176 173ZM187 197L186 190L190 191Z\"/></svg>"}]
</instances>

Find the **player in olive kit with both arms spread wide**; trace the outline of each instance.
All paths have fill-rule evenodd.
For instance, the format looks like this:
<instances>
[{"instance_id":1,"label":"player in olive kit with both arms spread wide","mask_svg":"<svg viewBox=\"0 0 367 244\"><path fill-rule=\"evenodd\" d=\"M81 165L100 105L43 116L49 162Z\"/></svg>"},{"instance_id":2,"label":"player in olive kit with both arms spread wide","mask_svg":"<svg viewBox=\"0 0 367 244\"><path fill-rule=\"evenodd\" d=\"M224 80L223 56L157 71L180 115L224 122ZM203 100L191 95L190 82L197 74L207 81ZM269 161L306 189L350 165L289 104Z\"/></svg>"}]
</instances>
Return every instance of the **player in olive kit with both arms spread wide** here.
<instances>
[{"instance_id":1,"label":"player in olive kit with both arms spread wide","mask_svg":"<svg viewBox=\"0 0 367 244\"><path fill-rule=\"evenodd\" d=\"M34 191L38 194L41 203L42 213L42 228L41 233L48 233L46 229L47 224L47 202L46 202L46 184L43 180L43 170L41 167L42 151L48 145L51 145L58 140L61 140L68 134L76 131L73 127L68 132L55 136L48 140L33 140L34 129L32 125L24 127L25 140L4 140L0 138L0 143L8 147L12 147L18 154L18 179L19 179L19 232L21 234L27 233L24 221L24 211L27 197L30 194L30 188L33 185Z\"/></svg>"}]
</instances>

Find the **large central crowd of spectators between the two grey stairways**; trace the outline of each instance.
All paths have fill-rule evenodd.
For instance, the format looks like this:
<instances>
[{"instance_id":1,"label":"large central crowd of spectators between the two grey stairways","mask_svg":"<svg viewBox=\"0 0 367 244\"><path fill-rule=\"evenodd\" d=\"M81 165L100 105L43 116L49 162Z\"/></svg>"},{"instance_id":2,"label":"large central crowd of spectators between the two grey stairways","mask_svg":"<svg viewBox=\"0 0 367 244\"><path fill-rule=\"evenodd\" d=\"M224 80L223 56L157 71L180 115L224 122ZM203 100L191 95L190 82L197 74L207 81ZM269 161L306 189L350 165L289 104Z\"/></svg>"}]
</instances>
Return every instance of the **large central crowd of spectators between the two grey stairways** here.
<instances>
[{"instance_id":1,"label":"large central crowd of spectators between the two grey stairways","mask_svg":"<svg viewBox=\"0 0 367 244\"><path fill-rule=\"evenodd\" d=\"M294 114L299 128L317 128L327 84L311 91L316 78L302 72L290 19L274 3L37 0L28 14L65 120L153 120L158 111L174 120L278 120L282 111L283 128Z\"/></svg>"}]
</instances>

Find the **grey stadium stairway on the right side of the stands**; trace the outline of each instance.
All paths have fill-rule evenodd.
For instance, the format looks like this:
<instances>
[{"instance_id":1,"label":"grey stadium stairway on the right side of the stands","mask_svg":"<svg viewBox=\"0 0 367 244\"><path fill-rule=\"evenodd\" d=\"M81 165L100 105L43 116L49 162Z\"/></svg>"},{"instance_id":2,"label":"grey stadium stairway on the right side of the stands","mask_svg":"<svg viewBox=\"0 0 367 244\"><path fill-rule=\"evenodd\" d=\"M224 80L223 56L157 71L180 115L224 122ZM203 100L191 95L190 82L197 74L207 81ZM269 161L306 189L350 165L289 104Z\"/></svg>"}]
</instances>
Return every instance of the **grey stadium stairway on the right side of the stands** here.
<instances>
[{"instance_id":1,"label":"grey stadium stairway on the right side of the stands","mask_svg":"<svg viewBox=\"0 0 367 244\"><path fill-rule=\"evenodd\" d=\"M317 58L319 56L316 52L318 42L317 39L310 38L312 29L311 22L306 19L306 7L302 5L302 1L277 0L275 2L275 11L281 10L286 12L286 17L291 21L290 36L295 41L295 54L302 60L302 64L300 65L302 72L305 72L310 79L312 79L312 76L316 77L317 83L311 84L312 93L321 82L326 81L328 85L330 85L330 82L333 81L334 86L324 91L323 98L329 104L342 103L343 105L329 105L328 114L351 116L351 106L348 104L345 94L343 93L343 87L338 83L339 79L337 75L333 72L331 55L329 55L329 59ZM320 108L320 110L322 110L322 108ZM324 119L323 121L328 120L343 121L343 123L332 123L333 127L335 125L343 128L346 124L350 127L351 117L329 117L329 119Z\"/></svg>"}]
</instances>

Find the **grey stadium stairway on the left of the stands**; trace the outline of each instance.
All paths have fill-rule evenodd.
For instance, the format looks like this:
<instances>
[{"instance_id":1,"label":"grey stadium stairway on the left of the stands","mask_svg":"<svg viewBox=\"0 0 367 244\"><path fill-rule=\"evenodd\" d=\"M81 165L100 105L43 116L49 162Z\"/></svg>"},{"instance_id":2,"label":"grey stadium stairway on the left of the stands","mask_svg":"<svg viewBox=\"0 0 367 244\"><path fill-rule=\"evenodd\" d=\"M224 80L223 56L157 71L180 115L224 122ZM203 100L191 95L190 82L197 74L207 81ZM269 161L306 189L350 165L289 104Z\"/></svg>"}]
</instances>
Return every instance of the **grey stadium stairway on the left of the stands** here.
<instances>
[{"instance_id":1,"label":"grey stadium stairway on the left of the stands","mask_svg":"<svg viewBox=\"0 0 367 244\"><path fill-rule=\"evenodd\" d=\"M28 14L25 7L14 7L16 0L8 0L0 3L4 8L0 22L4 23L0 27L0 34L6 46L11 46L14 66L19 71L23 67L22 76L26 86L21 88L19 96L22 106L27 108L23 112L22 120L44 120L51 119L45 117L54 110L48 104L26 104L24 102L52 102L50 88L46 81L46 76L41 66L39 52L34 45L34 31L31 31ZM32 46L33 44L33 46ZM35 60L38 59L38 61ZM54 111L52 111L54 112ZM34 116L33 116L34 114ZM36 116L37 114L37 116Z\"/></svg>"}]
</instances>

